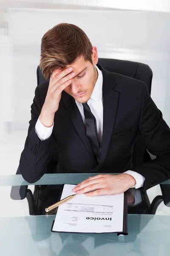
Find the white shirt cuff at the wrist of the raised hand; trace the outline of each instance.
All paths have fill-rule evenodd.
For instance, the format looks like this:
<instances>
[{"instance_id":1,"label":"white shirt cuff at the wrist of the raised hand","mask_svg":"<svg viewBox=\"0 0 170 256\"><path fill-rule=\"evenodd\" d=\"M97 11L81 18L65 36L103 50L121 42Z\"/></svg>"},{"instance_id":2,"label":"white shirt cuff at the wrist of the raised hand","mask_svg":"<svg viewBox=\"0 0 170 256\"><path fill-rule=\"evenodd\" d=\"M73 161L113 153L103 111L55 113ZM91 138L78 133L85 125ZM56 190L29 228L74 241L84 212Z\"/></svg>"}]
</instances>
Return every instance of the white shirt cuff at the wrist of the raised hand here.
<instances>
[{"instance_id":1,"label":"white shirt cuff at the wrist of the raised hand","mask_svg":"<svg viewBox=\"0 0 170 256\"><path fill-rule=\"evenodd\" d=\"M45 127L44 125L42 125L42 123L40 122L40 119L38 118L35 125L35 133L37 134L40 140L47 140L52 134L53 127L54 127L54 122L51 127Z\"/></svg>"}]
</instances>

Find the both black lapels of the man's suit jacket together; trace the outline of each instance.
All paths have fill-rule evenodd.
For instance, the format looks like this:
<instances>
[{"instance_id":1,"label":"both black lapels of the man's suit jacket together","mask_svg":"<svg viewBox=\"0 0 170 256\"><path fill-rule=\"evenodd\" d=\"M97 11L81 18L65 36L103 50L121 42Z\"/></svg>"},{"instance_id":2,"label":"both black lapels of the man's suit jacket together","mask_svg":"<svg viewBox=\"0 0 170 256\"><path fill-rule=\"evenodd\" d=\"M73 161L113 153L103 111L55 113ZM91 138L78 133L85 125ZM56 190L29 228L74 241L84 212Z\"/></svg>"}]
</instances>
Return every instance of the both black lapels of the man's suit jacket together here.
<instances>
[{"instance_id":1,"label":"both black lapels of the man's suit jacket together","mask_svg":"<svg viewBox=\"0 0 170 256\"><path fill-rule=\"evenodd\" d=\"M103 134L102 134L102 149L101 149L101 159L99 165L95 167L94 171L101 167L105 161L105 157L108 152L109 143L111 140L111 134L113 132L114 124L116 121L117 107L119 103L119 92L113 90L116 86L114 81L114 75L111 72L103 69L97 65L100 70L102 70L103 75ZM91 147L91 143L88 140L88 137L85 134L85 125L82 120L82 116L79 112L79 109L76 105L74 98L72 98L68 93L62 92L62 102L65 105L65 108L68 112L68 115L71 119L72 124L74 125L77 133L88 149L89 153L93 157L94 161L94 152ZM96 163L97 164L97 163Z\"/></svg>"}]
</instances>

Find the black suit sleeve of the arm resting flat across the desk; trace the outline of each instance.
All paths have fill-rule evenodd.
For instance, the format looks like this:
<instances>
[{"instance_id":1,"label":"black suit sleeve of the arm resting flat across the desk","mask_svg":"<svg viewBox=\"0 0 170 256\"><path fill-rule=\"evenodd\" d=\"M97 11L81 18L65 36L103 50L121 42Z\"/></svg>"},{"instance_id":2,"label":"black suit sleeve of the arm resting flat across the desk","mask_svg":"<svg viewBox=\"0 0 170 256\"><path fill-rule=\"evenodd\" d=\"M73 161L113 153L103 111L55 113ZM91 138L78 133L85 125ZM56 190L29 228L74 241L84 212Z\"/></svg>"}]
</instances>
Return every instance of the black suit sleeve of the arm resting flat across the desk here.
<instances>
[{"instance_id":1,"label":"black suit sleeve of the arm resting flat across the desk","mask_svg":"<svg viewBox=\"0 0 170 256\"><path fill-rule=\"evenodd\" d=\"M151 99L146 84L142 93L139 134L147 150L156 155L156 159L131 169L145 178L143 190L146 191L170 179L170 128Z\"/></svg>"}]
</instances>

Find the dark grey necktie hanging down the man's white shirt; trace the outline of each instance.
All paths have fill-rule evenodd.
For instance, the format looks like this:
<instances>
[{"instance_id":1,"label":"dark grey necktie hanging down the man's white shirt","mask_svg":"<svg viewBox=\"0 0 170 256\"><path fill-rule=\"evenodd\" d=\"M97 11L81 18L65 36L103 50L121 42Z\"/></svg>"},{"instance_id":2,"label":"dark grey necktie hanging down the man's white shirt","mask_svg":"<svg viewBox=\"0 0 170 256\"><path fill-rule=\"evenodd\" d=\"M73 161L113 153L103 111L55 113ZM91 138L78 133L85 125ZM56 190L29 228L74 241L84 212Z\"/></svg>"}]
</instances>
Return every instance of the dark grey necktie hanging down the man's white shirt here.
<instances>
[{"instance_id":1,"label":"dark grey necktie hanging down the man's white shirt","mask_svg":"<svg viewBox=\"0 0 170 256\"><path fill-rule=\"evenodd\" d=\"M91 110L86 103L82 103L84 114L85 114L85 121L86 121L86 136L91 142L94 154L96 156L96 159L99 163L100 160L100 147L99 147L99 139L98 139L98 133L97 133L97 125L96 125L96 118L91 113Z\"/></svg>"}]
</instances>

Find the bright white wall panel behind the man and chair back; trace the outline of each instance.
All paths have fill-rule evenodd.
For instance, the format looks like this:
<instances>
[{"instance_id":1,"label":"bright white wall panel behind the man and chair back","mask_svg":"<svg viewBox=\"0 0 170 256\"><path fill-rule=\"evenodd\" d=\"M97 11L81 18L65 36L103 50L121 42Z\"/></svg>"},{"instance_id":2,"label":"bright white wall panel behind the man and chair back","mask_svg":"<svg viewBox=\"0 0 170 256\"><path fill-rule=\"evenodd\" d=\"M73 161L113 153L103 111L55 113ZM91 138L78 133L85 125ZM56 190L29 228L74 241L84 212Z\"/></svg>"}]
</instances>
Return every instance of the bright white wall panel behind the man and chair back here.
<instances>
[{"instance_id":1,"label":"bright white wall panel behind the man and chair back","mask_svg":"<svg viewBox=\"0 0 170 256\"><path fill-rule=\"evenodd\" d=\"M88 19L87 19L88 17ZM75 23L98 47L99 56L140 61L153 70L152 97L164 113L170 64L170 14L132 11L9 9L6 15L12 44L8 87L13 90L13 132L26 131L36 87L42 35L60 22ZM5 49L7 45L5 42ZM7 65L8 66L8 65ZM3 68L7 71L8 68ZM9 71L8 71L9 72ZM9 76L10 77L10 76ZM6 90L6 99L9 98ZM4 100L6 100L4 99ZM8 100L9 101L9 100ZM10 99L11 102L11 99ZM21 108L22 106L22 108ZM11 108L11 105L9 105ZM6 111L8 110L8 104ZM4 114L3 114L4 115ZM5 119L6 116L4 115ZM170 124L170 116L167 115Z\"/></svg>"}]
</instances>

